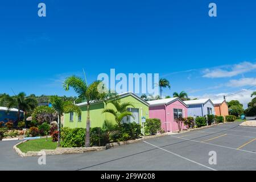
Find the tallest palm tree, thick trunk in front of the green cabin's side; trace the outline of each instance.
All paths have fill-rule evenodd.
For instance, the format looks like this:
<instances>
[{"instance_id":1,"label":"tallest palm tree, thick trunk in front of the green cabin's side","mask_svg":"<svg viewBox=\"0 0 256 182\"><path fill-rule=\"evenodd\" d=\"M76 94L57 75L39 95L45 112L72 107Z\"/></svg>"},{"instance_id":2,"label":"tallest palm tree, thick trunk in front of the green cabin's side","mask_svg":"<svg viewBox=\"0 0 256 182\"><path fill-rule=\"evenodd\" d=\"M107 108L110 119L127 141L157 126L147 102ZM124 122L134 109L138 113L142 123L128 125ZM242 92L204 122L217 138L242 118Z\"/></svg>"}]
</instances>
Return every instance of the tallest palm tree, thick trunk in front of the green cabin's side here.
<instances>
[{"instance_id":1,"label":"tallest palm tree, thick trunk in front of the green cabin's side","mask_svg":"<svg viewBox=\"0 0 256 182\"><path fill-rule=\"evenodd\" d=\"M85 134L85 147L90 147L90 104L92 101L101 100L106 97L105 94L98 92L98 86L101 81L94 81L92 84L87 85L86 79L81 77L71 76L68 77L63 84L64 90L73 88L81 100L85 100L87 104L87 119L86 119L86 134Z\"/></svg>"}]
</instances>

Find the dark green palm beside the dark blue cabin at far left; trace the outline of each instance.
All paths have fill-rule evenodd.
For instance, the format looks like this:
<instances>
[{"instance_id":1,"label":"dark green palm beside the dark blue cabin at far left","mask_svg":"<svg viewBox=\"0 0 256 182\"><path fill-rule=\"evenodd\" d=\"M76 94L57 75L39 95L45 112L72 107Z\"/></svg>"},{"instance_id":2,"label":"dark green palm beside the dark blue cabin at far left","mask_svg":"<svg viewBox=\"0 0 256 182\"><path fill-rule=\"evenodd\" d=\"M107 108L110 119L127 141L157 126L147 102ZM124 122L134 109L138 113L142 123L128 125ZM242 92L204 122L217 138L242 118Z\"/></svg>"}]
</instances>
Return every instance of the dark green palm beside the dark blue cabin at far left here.
<instances>
[{"instance_id":1,"label":"dark green palm beside the dark blue cabin at far left","mask_svg":"<svg viewBox=\"0 0 256 182\"><path fill-rule=\"evenodd\" d=\"M35 109L35 107L38 105L38 101L35 97L26 97L26 94L24 92L20 92L16 96L9 96L5 94L2 96L0 103L5 103L8 109L16 107L18 109L18 121L20 121L21 110L24 111L24 117L26 118L27 113Z\"/></svg>"}]
</instances>

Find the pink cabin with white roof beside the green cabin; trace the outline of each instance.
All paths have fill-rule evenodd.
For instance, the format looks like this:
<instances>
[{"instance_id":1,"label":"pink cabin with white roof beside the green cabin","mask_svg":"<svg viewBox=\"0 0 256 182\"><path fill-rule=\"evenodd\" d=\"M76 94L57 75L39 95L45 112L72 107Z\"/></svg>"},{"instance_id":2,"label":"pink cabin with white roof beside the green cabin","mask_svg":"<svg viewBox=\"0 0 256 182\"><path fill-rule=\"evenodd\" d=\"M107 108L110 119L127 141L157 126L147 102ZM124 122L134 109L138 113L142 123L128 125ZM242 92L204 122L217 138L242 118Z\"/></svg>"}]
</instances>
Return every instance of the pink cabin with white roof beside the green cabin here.
<instances>
[{"instance_id":1,"label":"pink cabin with white roof beside the green cabin","mask_svg":"<svg viewBox=\"0 0 256 182\"><path fill-rule=\"evenodd\" d=\"M178 117L187 118L188 106L179 98L165 98L162 100L148 101L149 117L161 120L162 129L165 132L178 131L175 119ZM183 126L185 129L185 126Z\"/></svg>"}]
</instances>

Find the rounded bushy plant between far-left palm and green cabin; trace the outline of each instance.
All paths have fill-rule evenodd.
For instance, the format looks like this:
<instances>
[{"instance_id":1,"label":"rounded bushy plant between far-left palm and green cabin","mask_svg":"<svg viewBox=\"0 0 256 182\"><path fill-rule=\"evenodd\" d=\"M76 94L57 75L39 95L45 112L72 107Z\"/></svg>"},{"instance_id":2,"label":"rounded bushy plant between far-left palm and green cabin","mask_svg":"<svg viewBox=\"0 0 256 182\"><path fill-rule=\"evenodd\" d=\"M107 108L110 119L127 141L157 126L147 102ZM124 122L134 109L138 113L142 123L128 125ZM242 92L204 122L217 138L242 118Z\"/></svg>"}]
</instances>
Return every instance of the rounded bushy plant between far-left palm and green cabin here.
<instances>
[{"instance_id":1,"label":"rounded bushy plant between far-left palm and green cabin","mask_svg":"<svg viewBox=\"0 0 256 182\"><path fill-rule=\"evenodd\" d=\"M57 119L57 114L52 107L37 106L32 113L32 120L38 121L40 124L47 122L48 124Z\"/></svg>"}]
</instances>

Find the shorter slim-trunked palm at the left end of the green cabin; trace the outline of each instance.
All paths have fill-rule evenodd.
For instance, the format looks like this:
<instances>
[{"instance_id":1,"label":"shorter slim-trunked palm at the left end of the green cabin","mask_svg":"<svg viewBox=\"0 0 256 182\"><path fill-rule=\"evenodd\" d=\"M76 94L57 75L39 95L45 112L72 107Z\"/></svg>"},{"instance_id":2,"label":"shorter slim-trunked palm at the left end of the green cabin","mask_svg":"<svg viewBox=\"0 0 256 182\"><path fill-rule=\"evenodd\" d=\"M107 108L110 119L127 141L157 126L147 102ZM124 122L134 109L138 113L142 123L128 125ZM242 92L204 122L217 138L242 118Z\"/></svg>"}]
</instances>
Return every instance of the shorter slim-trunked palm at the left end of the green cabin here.
<instances>
[{"instance_id":1,"label":"shorter slim-trunked palm at the left end of the green cabin","mask_svg":"<svg viewBox=\"0 0 256 182\"><path fill-rule=\"evenodd\" d=\"M76 114L80 115L81 110L79 106L73 104L72 101L64 101L58 96L52 96L50 98L50 101L52 103L52 108L56 111L58 115L58 147L60 147L61 115L63 115L63 113L71 112L75 112Z\"/></svg>"}]
</instances>

